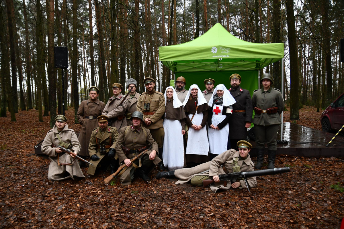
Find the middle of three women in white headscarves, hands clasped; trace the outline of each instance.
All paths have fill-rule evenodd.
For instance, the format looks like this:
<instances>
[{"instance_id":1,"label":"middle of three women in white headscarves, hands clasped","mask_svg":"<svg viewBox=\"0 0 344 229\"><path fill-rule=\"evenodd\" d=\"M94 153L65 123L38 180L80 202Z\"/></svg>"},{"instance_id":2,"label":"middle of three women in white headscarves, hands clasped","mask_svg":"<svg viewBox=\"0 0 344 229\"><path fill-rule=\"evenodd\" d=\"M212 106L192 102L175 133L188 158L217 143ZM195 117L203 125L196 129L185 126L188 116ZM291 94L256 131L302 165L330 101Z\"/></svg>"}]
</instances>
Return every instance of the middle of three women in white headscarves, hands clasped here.
<instances>
[{"instance_id":1,"label":"middle of three women in white headscarves, hands clasped","mask_svg":"<svg viewBox=\"0 0 344 229\"><path fill-rule=\"evenodd\" d=\"M209 106L196 84L191 85L183 105L189 127L185 157L187 166L192 167L209 161L209 143L207 130L204 128Z\"/></svg>"}]
</instances>

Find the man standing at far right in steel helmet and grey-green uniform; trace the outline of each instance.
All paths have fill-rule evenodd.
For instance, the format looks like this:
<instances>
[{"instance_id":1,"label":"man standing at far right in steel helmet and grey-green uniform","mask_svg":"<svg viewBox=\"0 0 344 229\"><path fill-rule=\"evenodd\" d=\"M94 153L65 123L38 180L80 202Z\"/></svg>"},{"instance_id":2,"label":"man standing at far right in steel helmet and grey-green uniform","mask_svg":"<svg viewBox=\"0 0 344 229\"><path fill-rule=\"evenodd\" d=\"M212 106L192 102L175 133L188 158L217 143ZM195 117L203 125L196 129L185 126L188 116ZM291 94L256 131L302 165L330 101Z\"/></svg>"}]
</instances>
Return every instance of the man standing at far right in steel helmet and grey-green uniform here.
<instances>
[{"instance_id":1,"label":"man standing at far right in steel helmet and grey-green uniform","mask_svg":"<svg viewBox=\"0 0 344 229\"><path fill-rule=\"evenodd\" d=\"M263 87L255 90L252 96L258 160L256 169L260 169L263 163L265 142L268 145L268 169L273 169L277 151L276 137L284 101L280 90L271 88L273 81L269 73L261 76L260 83Z\"/></svg>"}]
</instances>

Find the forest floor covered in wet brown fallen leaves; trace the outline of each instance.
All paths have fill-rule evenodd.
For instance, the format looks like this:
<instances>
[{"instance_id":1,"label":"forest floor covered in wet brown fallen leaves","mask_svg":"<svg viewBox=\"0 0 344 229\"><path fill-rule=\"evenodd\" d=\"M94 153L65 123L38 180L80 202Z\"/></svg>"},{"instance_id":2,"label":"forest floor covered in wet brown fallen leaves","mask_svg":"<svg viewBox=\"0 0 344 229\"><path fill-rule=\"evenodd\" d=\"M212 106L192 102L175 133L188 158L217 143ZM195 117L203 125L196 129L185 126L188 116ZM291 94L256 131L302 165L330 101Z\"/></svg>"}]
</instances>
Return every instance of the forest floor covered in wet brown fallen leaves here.
<instances>
[{"instance_id":1,"label":"forest floor covered in wet brown fallen leaves","mask_svg":"<svg viewBox=\"0 0 344 229\"><path fill-rule=\"evenodd\" d=\"M297 123L320 129L320 115L304 108ZM66 116L73 120L74 110ZM0 228L339 229L344 217L344 158L279 155L276 167L291 172L258 177L251 193L176 185L176 179L156 180L156 170L148 184L137 179L130 186L105 185L108 172L90 177L87 168L85 179L50 182L49 158L34 153L50 129L49 117L39 123L35 110L16 117L0 118Z\"/></svg>"}]
</instances>

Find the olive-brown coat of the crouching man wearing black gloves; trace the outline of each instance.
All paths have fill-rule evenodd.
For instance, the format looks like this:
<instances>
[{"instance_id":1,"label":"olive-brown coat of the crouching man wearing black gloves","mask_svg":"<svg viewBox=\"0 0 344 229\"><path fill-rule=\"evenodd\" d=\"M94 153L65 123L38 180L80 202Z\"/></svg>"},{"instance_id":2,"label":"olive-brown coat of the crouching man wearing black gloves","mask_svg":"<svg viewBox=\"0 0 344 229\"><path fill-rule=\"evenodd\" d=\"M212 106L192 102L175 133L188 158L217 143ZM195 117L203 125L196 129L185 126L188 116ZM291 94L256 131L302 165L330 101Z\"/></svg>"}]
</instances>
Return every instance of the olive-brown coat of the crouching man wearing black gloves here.
<instances>
[{"instance_id":1,"label":"olive-brown coat of the crouching man wearing black gloves","mask_svg":"<svg viewBox=\"0 0 344 229\"><path fill-rule=\"evenodd\" d=\"M104 134L101 133L100 127L95 128L92 131L92 135L91 135L89 145L88 145L88 152L89 152L90 157L92 155L96 154L99 157L99 159L96 161L92 161L92 160L90 161L93 164L93 165L88 166L87 173L90 175L94 175L99 162L106 155L105 153L102 153L102 154L99 153L98 145L105 145L105 146L110 145L110 148L114 148L114 149L116 147L116 141L118 138L117 129L115 127L111 127L111 126L107 126L105 129L106 130L105 130ZM110 137L111 137L111 142L110 142ZM97 145L97 140L98 140L98 145ZM110 148L105 149L106 152L109 152Z\"/></svg>"}]
</instances>

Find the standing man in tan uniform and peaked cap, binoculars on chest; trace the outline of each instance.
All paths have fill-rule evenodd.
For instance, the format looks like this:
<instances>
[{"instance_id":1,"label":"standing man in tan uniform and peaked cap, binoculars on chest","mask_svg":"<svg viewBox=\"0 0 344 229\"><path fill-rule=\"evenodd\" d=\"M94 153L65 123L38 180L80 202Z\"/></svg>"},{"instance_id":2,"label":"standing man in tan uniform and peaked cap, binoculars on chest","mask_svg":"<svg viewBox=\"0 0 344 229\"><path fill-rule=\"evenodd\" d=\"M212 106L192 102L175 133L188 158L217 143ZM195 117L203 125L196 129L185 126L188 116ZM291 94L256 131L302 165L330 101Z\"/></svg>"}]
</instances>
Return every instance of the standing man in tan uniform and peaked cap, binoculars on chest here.
<instances>
[{"instance_id":1,"label":"standing man in tan uniform and peaked cap, binoculars on chest","mask_svg":"<svg viewBox=\"0 0 344 229\"><path fill-rule=\"evenodd\" d=\"M155 91L154 79L147 77L143 80L143 83L146 86L146 91L140 95L136 109L143 113L142 126L150 130L154 141L158 144L159 157L162 160L165 135L162 116L165 113L165 98L163 93ZM159 163L159 169L165 170L162 162Z\"/></svg>"}]
</instances>

